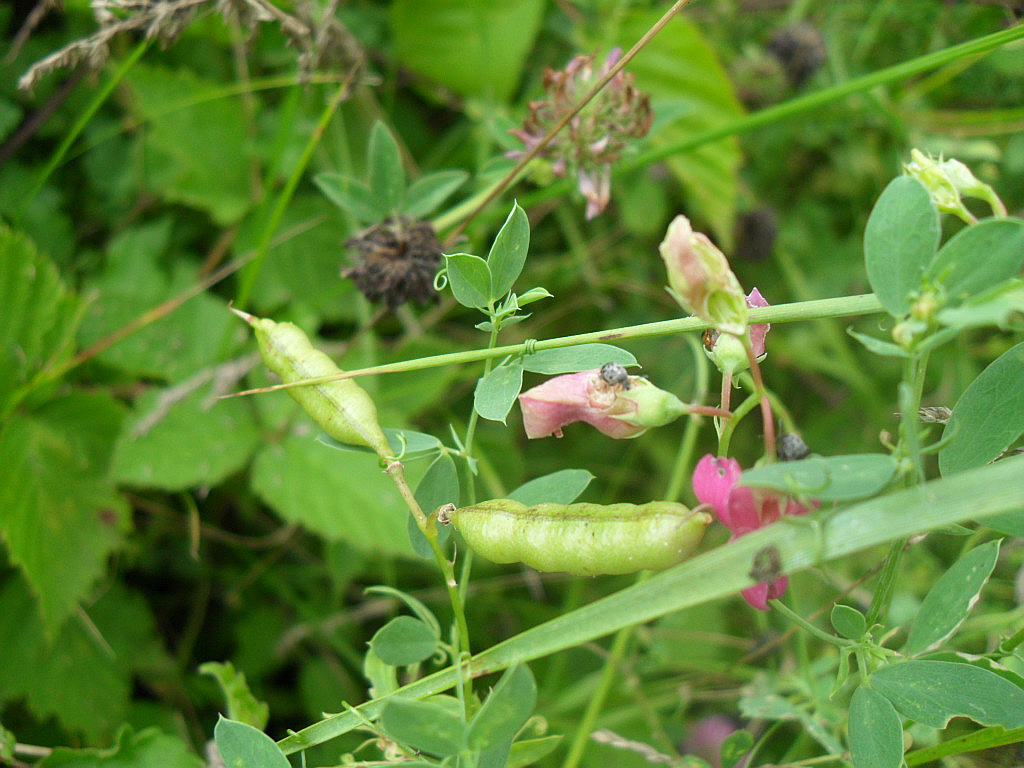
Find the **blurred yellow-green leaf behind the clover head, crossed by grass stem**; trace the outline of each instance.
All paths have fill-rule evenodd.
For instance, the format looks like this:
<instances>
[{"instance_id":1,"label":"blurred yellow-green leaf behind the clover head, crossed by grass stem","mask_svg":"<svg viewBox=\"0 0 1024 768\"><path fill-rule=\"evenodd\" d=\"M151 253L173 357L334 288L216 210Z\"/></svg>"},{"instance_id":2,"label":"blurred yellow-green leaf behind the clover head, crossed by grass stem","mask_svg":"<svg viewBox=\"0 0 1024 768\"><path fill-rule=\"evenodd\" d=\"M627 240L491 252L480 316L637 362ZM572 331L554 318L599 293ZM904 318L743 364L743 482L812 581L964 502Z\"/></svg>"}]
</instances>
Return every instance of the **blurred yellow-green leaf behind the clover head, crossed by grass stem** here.
<instances>
[{"instance_id":1,"label":"blurred yellow-green leaf behind the clover head, crossed by grass stem","mask_svg":"<svg viewBox=\"0 0 1024 768\"><path fill-rule=\"evenodd\" d=\"M629 50L660 14L659 9L625 13L615 44ZM629 72L636 76L637 87L650 95L655 115L674 110L678 116L651 132L648 141L654 148L679 144L698 133L731 123L743 114L715 47L696 25L682 15L672 19L637 54ZM687 200L699 217L711 223L715 240L726 253L733 237L740 160L735 136L675 153L666 160L685 187Z\"/></svg>"}]
</instances>

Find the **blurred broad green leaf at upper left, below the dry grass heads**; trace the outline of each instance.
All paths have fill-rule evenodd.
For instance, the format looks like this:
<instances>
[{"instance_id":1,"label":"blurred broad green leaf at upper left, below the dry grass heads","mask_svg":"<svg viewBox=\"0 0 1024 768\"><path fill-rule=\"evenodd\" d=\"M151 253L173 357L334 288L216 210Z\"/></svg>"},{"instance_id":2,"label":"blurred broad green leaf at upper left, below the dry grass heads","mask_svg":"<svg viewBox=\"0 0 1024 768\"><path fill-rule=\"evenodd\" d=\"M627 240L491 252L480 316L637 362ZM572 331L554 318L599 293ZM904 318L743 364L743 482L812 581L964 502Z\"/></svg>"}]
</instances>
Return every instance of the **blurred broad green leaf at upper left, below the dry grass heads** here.
<instances>
[{"instance_id":1,"label":"blurred broad green leaf at upper left, below the dry grass heads","mask_svg":"<svg viewBox=\"0 0 1024 768\"><path fill-rule=\"evenodd\" d=\"M241 219L252 205L252 141L234 97L188 70L142 63L125 84L135 119L147 126L148 184L220 225Z\"/></svg>"}]
</instances>

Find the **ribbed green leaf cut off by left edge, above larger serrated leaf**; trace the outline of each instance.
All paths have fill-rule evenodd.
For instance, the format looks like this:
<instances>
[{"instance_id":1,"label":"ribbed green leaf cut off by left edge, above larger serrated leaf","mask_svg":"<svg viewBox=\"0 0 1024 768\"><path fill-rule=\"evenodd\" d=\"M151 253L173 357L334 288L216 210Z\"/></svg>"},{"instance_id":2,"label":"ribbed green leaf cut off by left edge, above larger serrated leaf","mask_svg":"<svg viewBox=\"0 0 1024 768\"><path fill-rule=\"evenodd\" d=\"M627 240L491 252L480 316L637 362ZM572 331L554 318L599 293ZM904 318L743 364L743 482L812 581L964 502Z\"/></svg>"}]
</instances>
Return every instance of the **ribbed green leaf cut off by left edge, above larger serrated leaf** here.
<instances>
[{"instance_id":1,"label":"ribbed green leaf cut off by left edge, above larger serrated leaf","mask_svg":"<svg viewBox=\"0 0 1024 768\"><path fill-rule=\"evenodd\" d=\"M56 356L71 333L68 300L53 263L28 237L0 224L0 418L14 390Z\"/></svg>"}]
</instances>

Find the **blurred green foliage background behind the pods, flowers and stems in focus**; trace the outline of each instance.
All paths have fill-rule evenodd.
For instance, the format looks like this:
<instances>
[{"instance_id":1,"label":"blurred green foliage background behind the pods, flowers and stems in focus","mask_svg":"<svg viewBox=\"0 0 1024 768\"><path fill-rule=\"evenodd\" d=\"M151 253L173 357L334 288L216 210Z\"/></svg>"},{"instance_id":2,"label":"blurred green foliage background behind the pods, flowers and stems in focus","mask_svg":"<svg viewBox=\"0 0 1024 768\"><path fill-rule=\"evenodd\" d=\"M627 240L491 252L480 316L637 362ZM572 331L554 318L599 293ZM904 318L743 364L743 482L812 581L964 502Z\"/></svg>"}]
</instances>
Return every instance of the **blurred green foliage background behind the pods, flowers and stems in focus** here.
<instances>
[{"instance_id":1,"label":"blurred green foliage background behind the pods, flowers and stems in focus","mask_svg":"<svg viewBox=\"0 0 1024 768\"><path fill-rule=\"evenodd\" d=\"M345 369L483 346L485 336L473 328L478 316L447 296L376 316L339 276L351 264L345 242L358 223L321 194L313 176L362 176L370 128L380 119L398 137L414 177L468 172L455 198L462 203L510 167L503 156L516 142L508 130L540 96L544 68L560 68L579 52L628 48L663 5L341 4L343 37L366 52L366 66L318 136L326 105L353 71L343 57L327 56L310 82L299 83L296 52L274 24L250 36L202 15L173 45L148 47L62 157L55 155L60 141L139 43L114 39L106 63L67 92L62 84L77 77L68 71L45 77L32 93L19 91L16 80L32 61L93 31L88 3L69 0L3 62L0 139L11 152L0 153L0 721L22 742L89 748L55 752L46 765L113 765L112 755L124 765L199 765L195 754L222 709L219 689L198 669L210 660L230 659L245 673L269 703L267 730L280 738L286 728L341 710L342 701L366 698L367 642L399 605L365 596L365 587L397 587L444 613L440 582L414 554L408 512L376 459L316 442L314 427L282 393L219 399L269 383L228 302L243 296L249 310L315 333ZM16 26L12 13L4 6L0 23ZM485 253L513 195L530 217L519 285L544 286L555 299L534 305L528 321L503 333L504 343L677 316L662 288L656 244L681 211L730 254L742 284L759 287L773 304L866 293L867 214L910 146L963 160L1011 211L1021 210L1019 41L980 60L644 161L798 97L802 91L765 52L771 35L797 20L820 30L827 50L803 91L1013 23L1008 8L982 2L695 3L630 67L651 94L655 125L625 158L602 216L585 222L567 186L554 187L561 190L555 195L525 181L467 228L459 249ZM26 127L46 104L52 114ZM44 173L54 157L60 163ZM278 211L282 201L287 206ZM737 224L769 210L773 246ZM455 218L442 213L436 223L450 229ZM265 255L254 259L267 238ZM248 261L207 285L236 259ZM828 455L878 450L879 431L896 429L898 362L870 356L845 325L778 326L769 340L769 386L807 442ZM879 319L855 326L877 333ZM937 353L927 402L952 406L1012 345L1008 334L964 335ZM681 396L699 388L693 350L681 338L628 346L660 387ZM383 424L446 440L450 424L465 431L481 370L362 381ZM540 381L527 374L526 386ZM610 441L573 425L561 441L527 443L520 426L516 410L507 427L480 426L480 498L566 468L597 478L588 501L660 498L680 438L670 428ZM701 440L712 447L710 435ZM746 427L734 440L744 464L757 443ZM414 481L426 469L409 462ZM688 488L683 497L693 502ZM955 555L945 540L910 553L911 587L897 597L895 621L914 613ZM1012 552L1000 563L991 613L1019 611L1011 580L1020 560ZM873 562L842 562L829 573L834 584L799 577L795 593L815 606ZM479 563L468 606L474 643L487 647L627 583L538 579ZM699 695L681 698L681 679L706 693L720 686L730 700L740 684L762 683L763 673L745 667L721 678L697 674L725 670L767 629L735 605L719 600L647 628L630 670L647 710L638 714L624 690L602 725L678 743L684 712L714 709ZM963 649L979 650L986 638L979 621ZM571 729L600 664L584 647L536 666L540 711L553 732ZM653 713L667 714L651 737ZM333 764L357 742L323 748L312 764Z\"/></svg>"}]
</instances>

